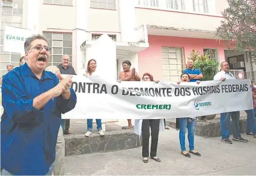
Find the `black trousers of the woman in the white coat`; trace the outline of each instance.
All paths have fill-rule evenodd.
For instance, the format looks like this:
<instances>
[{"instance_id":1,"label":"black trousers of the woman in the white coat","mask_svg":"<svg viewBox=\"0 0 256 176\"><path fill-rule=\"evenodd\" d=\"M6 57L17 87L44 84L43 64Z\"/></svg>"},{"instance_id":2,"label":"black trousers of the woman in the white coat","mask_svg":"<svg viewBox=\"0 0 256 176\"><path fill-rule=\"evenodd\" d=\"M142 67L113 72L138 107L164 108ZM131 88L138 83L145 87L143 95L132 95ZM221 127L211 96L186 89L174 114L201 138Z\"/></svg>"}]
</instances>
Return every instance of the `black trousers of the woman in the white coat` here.
<instances>
[{"instance_id":1,"label":"black trousers of the woman in the white coat","mask_svg":"<svg viewBox=\"0 0 256 176\"><path fill-rule=\"evenodd\" d=\"M149 156L149 127L151 128L150 156L156 157L160 119L144 119L142 121L142 157Z\"/></svg>"}]
</instances>

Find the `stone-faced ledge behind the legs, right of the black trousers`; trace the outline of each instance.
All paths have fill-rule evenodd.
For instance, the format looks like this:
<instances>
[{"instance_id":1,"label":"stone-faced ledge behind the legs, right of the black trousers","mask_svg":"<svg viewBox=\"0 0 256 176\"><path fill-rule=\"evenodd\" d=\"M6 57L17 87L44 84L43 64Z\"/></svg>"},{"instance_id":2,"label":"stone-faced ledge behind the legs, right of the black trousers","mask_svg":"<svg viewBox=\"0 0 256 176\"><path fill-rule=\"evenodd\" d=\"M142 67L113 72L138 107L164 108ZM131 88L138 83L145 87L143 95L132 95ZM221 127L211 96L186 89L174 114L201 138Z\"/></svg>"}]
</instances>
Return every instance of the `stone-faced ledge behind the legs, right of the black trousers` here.
<instances>
[{"instance_id":1,"label":"stone-faced ledge behind the legs, right of the black trousers","mask_svg":"<svg viewBox=\"0 0 256 176\"><path fill-rule=\"evenodd\" d=\"M240 113L240 132L246 132L246 113ZM211 123L203 122L203 120L197 119L195 125L195 135L202 137L220 137L220 116L217 114L215 119L210 120ZM171 128L176 128L176 119L166 119L166 125ZM232 120L231 120L231 134L232 134Z\"/></svg>"}]
</instances>

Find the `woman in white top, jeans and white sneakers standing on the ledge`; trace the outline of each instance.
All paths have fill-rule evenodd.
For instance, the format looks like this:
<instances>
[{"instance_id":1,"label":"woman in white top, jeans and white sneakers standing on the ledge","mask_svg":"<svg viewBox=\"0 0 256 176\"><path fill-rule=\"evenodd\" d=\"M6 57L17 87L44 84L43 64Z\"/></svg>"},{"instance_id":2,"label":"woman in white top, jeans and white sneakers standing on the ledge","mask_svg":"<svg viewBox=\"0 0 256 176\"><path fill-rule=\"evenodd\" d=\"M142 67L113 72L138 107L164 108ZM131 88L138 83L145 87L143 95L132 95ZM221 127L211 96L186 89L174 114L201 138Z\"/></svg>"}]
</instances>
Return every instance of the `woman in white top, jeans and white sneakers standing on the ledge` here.
<instances>
[{"instance_id":1,"label":"woman in white top, jeans and white sneakers standing on the ledge","mask_svg":"<svg viewBox=\"0 0 256 176\"><path fill-rule=\"evenodd\" d=\"M87 71L84 73L84 76L86 77L94 77L99 76L96 72L97 62L95 59L91 59L88 61L87 64ZM102 131L102 123L101 119L96 119L97 123L97 130L99 132L99 135L103 136L105 135ZM87 132L85 133L85 137L88 137L91 135L91 130L93 129L93 119L87 119Z\"/></svg>"}]
</instances>

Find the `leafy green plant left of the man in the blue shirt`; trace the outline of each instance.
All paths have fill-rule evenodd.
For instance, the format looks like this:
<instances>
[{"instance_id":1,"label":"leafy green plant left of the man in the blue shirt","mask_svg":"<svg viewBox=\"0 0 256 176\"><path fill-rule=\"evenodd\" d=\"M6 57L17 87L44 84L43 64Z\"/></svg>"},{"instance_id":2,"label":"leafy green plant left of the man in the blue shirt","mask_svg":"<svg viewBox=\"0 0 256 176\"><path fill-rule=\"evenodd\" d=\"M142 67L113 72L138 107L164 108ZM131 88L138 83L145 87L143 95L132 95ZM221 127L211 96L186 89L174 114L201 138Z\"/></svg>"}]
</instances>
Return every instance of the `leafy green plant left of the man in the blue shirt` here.
<instances>
[{"instance_id":1,"label":"leafy green plant left of the man in the blue shirt","mask_svg":"<svg viewBox=\"0 0 256 176\"><path fill-rule=\"evenodd\" d=\"M218 61L212 59L196 60L194 68L199 69L203 73L203 80L213 80L214 75L218 71Z\"/></svg>"}]
</instances>

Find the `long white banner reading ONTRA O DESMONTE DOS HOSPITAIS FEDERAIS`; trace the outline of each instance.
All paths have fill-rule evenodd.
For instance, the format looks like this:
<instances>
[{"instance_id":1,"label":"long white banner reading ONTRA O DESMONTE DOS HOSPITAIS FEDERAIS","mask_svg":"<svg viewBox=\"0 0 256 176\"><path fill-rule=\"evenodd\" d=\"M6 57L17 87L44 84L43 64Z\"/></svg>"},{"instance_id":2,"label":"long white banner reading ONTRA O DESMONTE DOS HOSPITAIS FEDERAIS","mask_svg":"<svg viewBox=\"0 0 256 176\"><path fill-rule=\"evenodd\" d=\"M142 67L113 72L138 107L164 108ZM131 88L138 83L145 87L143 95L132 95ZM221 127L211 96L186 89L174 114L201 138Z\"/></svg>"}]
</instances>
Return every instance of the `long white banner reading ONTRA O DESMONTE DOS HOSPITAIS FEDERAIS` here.
<instances>
[{"instance_id":1,"label":"long white banner reading ONTRA O DESMONTE DOS HOSPITAIS FEDERAIS","mask_svg":"<svg viewBox=\"0 0 256 176\"><path fill-rule=\"evenodd\" d=\"M252 109L250 80L117 82L73 76L76 107L62 119L163 119Z\"/></svg>"}]
</instances>

